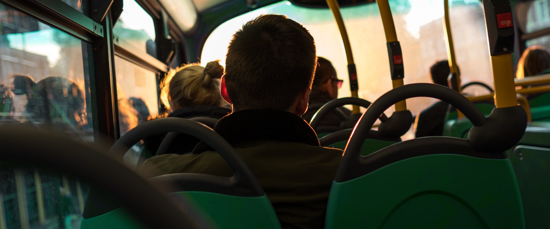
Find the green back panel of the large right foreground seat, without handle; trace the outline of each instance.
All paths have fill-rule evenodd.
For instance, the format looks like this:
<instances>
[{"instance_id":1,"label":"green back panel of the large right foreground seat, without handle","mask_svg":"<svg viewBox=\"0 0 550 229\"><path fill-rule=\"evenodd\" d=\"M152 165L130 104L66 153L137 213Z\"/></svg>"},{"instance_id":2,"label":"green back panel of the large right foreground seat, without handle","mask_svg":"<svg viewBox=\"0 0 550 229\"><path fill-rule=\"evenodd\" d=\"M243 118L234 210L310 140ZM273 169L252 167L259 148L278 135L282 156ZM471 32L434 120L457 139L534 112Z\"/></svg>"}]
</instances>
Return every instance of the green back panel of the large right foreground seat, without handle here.
<instances>
[{"instance_id":1,"label":"green back panel of the large right foreground seat, without handle","mask_svg":"<svg viewBox=\"0 0 550 229\"><path fill-rule=\"evenodd\" d=\"M432 154L334 182L326 228L524 228L524 219L508 159Z\"/></svg>"}]
</instances>

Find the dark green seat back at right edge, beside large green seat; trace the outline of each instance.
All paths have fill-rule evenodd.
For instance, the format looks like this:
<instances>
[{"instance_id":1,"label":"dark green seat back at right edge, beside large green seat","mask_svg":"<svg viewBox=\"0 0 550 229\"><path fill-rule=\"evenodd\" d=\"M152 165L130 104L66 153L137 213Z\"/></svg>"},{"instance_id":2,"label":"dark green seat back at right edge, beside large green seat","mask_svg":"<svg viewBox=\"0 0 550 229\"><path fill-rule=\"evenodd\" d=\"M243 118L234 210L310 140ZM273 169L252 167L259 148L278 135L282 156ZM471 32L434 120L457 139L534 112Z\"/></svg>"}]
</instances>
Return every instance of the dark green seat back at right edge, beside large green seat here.
<instances>
[{"instance_id":1,"label":"dark green seat back at right edge, beside large green seat","mask_svg":"<svg viewBox=\"0 0 550 229\"><path fill-rule=\"evenodd\" d=\"M550 123L529 126L520 143L507 153L518 178L525 227L550 228Z\"/></svg>"}]
</instances>

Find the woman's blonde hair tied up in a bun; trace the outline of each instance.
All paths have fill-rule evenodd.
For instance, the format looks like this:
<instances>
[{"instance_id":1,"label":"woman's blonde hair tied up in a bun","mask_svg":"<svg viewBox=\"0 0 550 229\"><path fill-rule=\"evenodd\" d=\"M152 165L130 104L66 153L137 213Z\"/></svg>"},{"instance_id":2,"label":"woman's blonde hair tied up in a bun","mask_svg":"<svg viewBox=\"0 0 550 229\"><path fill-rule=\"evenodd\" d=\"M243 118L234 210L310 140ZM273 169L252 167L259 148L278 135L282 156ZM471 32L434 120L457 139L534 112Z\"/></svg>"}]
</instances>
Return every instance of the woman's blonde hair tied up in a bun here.
<instances>
[{"instance_id":1,"label":"woman's blonde hair tied up in a bun","mask_svg":"<svg viewBox=\"0 0 550 229\"><path fill-rule=\"evenodd\" d=\"M218 61L208 62L206 67L199 63L186 64L169 70L161 82L161 101L167 110L171 103L179 107L200 105L221 105L219 81L223 67Z\"/></svg>"}]
</instances>

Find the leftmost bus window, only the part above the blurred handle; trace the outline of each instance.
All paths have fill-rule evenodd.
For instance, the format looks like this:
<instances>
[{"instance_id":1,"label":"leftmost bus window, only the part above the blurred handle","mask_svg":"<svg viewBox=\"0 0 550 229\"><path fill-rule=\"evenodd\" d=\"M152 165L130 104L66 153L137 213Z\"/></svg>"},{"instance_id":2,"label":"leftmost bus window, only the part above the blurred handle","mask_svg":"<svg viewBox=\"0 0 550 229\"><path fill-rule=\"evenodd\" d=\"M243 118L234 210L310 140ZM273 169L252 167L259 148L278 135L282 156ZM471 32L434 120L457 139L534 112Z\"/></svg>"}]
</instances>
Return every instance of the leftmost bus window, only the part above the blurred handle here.
<instances>
[{"instance_id":1,"label":"leftmost bus window, only the part above the blurred handle","mask_svg":"<svg viewBox=\"0 0 550 229\"><path fill-rule=\"evenodd\" d=\"M91 44L0 4L0 123L33 123L93 140Z\"/></svg>"}]
</instances>

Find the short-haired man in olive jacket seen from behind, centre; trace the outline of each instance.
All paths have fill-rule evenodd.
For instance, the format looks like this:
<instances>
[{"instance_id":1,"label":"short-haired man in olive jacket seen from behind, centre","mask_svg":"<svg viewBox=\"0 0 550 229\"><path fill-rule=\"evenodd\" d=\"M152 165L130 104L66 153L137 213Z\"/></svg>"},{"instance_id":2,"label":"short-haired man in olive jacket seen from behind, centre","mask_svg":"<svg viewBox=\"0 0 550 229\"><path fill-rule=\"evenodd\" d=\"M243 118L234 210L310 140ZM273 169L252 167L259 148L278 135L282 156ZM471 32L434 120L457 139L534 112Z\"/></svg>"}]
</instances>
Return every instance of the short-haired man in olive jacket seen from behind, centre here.
<instances>
[{"instance_id":1,"label":"short-haired man in olive jacket seen from behind, centre","mask_svg":"<svg viewBox=\"0 0 550 229\"><path fill-rule=\"evenodd\" d=\"M283 228L323 228L343 151L322 148L300 117L307 110L317 62L313 37L284 15L261 15L233 35L226 60L222 96L233 112L214 130L259 180ZM141 170L153 175L233 174L203 141L192 155L155 156Z\"/></svg>"}]
</instances>

